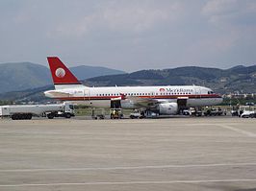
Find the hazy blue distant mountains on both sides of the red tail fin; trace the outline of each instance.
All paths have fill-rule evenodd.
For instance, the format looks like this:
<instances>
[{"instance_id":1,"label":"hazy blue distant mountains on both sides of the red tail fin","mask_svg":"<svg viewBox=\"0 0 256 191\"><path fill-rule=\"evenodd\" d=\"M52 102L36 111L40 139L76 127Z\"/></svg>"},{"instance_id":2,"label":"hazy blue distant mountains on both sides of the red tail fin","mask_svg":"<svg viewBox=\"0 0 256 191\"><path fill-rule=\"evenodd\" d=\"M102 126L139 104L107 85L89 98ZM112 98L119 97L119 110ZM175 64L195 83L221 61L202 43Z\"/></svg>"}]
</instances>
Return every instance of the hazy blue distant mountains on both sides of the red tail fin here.
<instances>
[{"instance_id":1,"label":"hazy blue distant mountains on both sides of the red tail fin","mask_svg":"<svg viewBox=\"0 0 256 191\"><path fill-rule=\"evenodd\" d=\"M91 77L124 74L123 71L106 67L76 66L71 67L79 80ZM49 68L31 62L15 62L0 64L0 93L21 91L52 84Z\"/></svg>"}]
</instances>

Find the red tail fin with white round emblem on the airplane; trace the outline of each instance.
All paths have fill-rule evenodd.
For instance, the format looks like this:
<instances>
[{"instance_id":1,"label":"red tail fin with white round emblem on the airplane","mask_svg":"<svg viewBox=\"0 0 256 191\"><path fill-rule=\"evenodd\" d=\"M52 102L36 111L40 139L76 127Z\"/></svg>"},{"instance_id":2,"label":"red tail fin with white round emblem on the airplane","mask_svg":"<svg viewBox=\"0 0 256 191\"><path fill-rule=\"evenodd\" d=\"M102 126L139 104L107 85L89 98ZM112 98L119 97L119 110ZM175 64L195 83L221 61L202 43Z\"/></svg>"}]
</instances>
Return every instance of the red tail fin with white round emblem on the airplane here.
<instances>
[{"instance_id":1,"label":"red tail fin with white round emblem on the airplane","mask_svg":"<svg viewBox=\"0 0 256 191\"><path fill-rule=\"evenodd\" d=\"M54 84L81 84L58 57L47 58Z\"/></svg>"}]
</instances>

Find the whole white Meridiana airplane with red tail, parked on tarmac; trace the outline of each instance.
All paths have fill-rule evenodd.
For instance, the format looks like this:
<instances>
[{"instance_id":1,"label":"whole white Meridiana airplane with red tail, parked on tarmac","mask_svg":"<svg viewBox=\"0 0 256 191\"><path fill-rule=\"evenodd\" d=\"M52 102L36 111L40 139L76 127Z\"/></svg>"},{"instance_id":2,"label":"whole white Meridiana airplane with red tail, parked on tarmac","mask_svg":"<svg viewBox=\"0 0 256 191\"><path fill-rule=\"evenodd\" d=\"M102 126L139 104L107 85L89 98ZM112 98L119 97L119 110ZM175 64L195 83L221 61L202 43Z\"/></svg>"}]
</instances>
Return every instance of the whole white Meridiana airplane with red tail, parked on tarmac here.
<instances>
[{"instance_id":1,"label":"whole white Meridiana airplane with red tail, parked on tarmac","mask_svg":"<svg viewBox=\"0 0 256 191\"><path fill-rule=\"evenodd\" d=\"M197 85L89 87L81 84L58 57L47 60L55 89L44 94L61 101L88 107L141 109L159 115L173 115L181 108L214 106L222 102L222 97L211 88Z\"/></svg>"}]
</instances>

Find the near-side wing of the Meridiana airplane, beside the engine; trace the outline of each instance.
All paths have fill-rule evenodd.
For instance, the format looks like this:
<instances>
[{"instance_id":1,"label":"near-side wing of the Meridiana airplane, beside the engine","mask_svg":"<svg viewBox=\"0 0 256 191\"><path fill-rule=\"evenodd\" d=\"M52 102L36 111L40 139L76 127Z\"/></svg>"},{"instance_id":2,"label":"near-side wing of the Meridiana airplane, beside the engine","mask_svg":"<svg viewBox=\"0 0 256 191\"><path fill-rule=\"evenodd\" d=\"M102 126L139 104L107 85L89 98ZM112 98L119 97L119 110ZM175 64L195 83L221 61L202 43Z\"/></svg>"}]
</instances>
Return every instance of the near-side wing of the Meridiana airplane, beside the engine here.
<instances>
[{"instance_id":1,"label":"near-side wing of the Meridiana airplane, beside the engine","mask_svg":"<svg viewBox=\"0 0 256 191\"><path fill-rule=\"evenodd\" d=\"M165 102L154 98L141 98L137 96L127 96L126 99L132 101L138 107L155 107L156 105Z\"/></svg>"}]
</instances>

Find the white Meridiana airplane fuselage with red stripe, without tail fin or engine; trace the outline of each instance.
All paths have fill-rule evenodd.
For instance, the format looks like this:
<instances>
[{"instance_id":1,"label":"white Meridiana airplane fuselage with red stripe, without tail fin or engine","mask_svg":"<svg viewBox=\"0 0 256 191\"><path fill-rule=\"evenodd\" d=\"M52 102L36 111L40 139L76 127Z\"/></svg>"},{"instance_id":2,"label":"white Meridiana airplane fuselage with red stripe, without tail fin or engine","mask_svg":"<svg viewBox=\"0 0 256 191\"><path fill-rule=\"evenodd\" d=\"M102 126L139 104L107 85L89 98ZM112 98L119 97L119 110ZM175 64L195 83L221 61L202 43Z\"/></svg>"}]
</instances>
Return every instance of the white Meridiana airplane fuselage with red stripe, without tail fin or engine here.
<instances>
[{"instance_id":1,"label":"white Meridiana airplane fuselage with red stripe, without tail fin or engine","mask_svg":"<svg viewBox=\"0 0 256 191\"><path fill-rule=\"evenodd\" d=\"M154 99L158 102L177 102L187 100L187 107L205 107L218 105L221 96L213 93L210 88L196 85L165 85L165 86L112 86L87 87L82 84L56 86L55 90L44 92L47 97L63 101L80 103L89 107L111 107L111 101L121 100L122 108L137 108L129 97Z\"/></svg>"}]
</instances>

